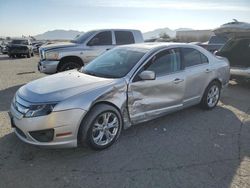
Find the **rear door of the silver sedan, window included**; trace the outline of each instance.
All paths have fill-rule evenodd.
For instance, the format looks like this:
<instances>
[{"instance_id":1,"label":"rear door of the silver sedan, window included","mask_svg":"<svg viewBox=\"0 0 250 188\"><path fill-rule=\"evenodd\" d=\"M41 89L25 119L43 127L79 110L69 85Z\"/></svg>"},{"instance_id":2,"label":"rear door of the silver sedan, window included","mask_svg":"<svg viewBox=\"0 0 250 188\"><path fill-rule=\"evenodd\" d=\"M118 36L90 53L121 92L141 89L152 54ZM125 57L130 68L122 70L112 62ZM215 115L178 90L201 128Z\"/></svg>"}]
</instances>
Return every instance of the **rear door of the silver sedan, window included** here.
<instances>
[{"instance_id":1,"label":"rear door of the silver sedan, window included","mask_svg":"<svg viewBox=\"0 0 250 188\"><path fill-rule=\"evenodd\" d=\"M189 106L200 101L212 74L208 58L194 48L182 48L182 61L185 66L186 91L184 105Z\"/></svg>"}]
</instances>

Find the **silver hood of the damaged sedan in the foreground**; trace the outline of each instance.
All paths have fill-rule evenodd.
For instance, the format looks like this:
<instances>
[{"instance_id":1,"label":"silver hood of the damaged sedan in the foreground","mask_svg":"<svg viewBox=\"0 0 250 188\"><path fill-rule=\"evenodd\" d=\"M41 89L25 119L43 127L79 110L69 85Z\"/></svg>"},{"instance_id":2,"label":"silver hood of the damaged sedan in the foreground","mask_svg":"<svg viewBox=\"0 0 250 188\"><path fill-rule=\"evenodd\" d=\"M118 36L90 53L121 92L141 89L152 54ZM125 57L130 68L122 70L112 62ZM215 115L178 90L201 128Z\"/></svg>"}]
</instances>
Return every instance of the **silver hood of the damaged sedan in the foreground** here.
<instances>
[{"instance_id":1,"label":"silver hood of the damaged sedan in the foreground","mask_svg":"<svg viewBox=\"0 0 250 188\"><path fill-rule=\"evenodd\" d=\"M74 95L111 85L114 79L100 78L77 70L32 81L18 90L18 96L31 103L59 102Z\"/></svg>"}]
</instances>

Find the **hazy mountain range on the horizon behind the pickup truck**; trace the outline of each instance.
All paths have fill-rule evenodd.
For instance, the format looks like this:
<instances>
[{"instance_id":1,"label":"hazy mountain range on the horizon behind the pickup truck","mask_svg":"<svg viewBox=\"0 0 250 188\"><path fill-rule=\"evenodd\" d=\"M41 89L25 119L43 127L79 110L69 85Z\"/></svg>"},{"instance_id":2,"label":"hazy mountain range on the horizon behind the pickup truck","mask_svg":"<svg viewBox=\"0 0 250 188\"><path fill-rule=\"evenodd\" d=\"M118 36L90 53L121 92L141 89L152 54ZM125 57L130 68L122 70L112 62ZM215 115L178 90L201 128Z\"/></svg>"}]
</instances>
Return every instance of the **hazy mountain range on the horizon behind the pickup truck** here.
<instances>
[{"instance_id":1,"label":"hazy mountain range on the horizon behind the pickup truck","mask_svg":"<svg viewBox=\"0 0 250 188\"><path fill-rule=\"evenodd\" d=\"M166 33L170 37L175 37L177 31L186 31L186 30L192 30L192 29L180 28L176 30L171 30L166 27L145 32L143 33L143 37L144 39L157 38L161 33ZM81 35L83 33L84 33L83 31L58 29L58 30L47 31L45 33L36 35L34 37L37 40L71 40L75 38L77 35Z\"/></svg>"}]
</instances>

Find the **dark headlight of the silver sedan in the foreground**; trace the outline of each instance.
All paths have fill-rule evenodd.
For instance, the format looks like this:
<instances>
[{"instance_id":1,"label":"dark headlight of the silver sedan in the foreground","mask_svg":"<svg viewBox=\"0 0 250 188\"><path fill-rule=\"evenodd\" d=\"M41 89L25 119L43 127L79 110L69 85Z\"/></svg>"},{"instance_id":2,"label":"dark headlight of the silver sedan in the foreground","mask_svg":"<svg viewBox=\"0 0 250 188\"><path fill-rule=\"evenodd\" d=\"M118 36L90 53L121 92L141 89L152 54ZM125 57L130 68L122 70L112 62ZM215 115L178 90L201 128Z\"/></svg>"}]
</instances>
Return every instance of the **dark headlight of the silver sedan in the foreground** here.
<instances>
[{"instance_id":1,"label":"dark headlight of the silver sedan in the foreground","mask_svg":"<svg viewBox=\"0 0 250 188\"><path fill-rule=\"evenodd\" d=\"M37 117L45 116L52 112L56 104L42 104L42 105L32 105L29 107L28 112L24 115L25 117Z\"/></svg>"}]
</instances>

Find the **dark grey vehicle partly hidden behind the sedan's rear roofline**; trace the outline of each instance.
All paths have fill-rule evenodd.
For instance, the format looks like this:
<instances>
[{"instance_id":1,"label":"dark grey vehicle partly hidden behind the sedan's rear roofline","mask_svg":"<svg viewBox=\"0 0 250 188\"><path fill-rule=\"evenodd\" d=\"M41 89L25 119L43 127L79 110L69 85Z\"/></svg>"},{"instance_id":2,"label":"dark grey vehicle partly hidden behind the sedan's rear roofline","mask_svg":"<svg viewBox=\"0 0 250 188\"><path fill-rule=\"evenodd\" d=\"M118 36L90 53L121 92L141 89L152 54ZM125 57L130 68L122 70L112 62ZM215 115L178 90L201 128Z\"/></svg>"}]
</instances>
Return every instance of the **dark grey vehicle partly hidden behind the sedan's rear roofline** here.
<instances>
[{"instance_id":1,"label":"dark grey vehicle partly hidden behind the sedan's rear roofline","mask_svg":"<svg viewBox=\"0 0 250 188\"><path fill-rule=\"evenodd\" d=\"M211 36L207 42L198 43L198 45L213 53L223 47L227 40L225 36Z\"/></svg>"}]
</instances>

